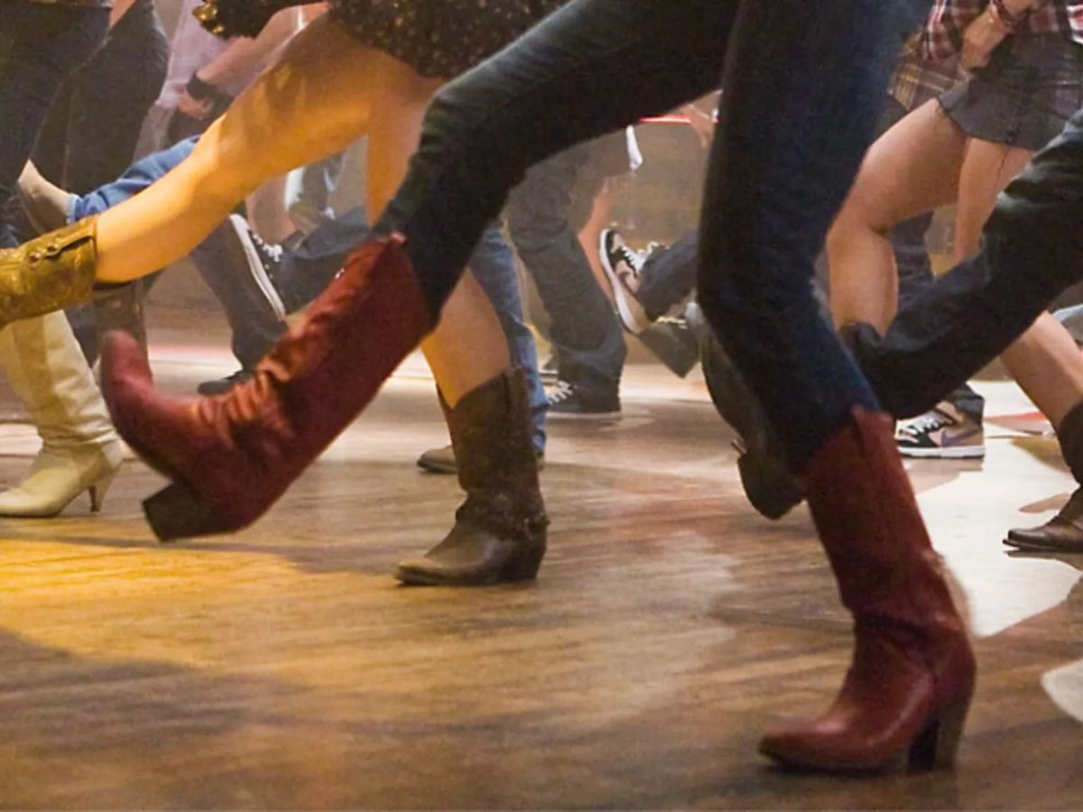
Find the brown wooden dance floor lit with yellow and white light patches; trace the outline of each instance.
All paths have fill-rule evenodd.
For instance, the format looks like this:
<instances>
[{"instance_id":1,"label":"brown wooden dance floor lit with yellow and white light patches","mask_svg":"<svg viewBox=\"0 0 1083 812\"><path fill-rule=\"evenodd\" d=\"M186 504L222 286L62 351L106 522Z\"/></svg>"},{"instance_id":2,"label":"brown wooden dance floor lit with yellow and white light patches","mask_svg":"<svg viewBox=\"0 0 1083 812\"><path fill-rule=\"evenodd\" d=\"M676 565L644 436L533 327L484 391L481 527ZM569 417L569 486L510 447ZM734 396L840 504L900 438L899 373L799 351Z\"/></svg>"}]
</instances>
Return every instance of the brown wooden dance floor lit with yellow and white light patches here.
<instances>
[{"instance_id":1,"label":"brown wooden dance floor lit with yellow and white light patches","mask_svg":"<svg viewBox=\"0 0 1083 812\"><path fill-rule=\"evenodd\" d=\"M232 371L216 353L159 343L155 368L191 391ZM392 579L459 500L414 467L446 442L416 358L245 533L159 546L135 461L99 516L2 521L0 807L1083 807L1083 556L1001 545L1071 490L1053 441L990 423L983 462L910 466L977 637L957 769L791 775L757 738L823 709L850 645L807 511L746 506L697 370L631 366L624 402L550 425L530 586ZM35 442L2 429L10 484Z\"/></svg>"}]
</instances>

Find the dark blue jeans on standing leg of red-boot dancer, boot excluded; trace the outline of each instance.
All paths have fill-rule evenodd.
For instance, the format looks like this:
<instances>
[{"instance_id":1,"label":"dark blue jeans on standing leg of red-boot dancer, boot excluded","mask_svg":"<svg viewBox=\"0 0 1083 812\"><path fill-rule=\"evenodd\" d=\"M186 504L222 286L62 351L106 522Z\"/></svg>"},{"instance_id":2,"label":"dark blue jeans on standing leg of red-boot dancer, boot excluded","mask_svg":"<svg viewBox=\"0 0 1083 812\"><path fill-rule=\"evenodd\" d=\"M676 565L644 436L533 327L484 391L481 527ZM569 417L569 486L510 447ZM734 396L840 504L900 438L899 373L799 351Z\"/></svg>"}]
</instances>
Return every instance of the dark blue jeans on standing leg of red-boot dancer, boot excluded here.
<instances>
[{"instance_id":1,"label":"dark blue jeans on standing leg of red-boot dancer, boot excluded","mask_svg":"<svg viewBox=\"0 0 1083 812\"><path fill-rule=\"evenodd\" d=\"M700 301L794 471L853 406L878 408L811 281L916 11L893 0L741 5L700 230Z\"/></svg>"}]
</instances>

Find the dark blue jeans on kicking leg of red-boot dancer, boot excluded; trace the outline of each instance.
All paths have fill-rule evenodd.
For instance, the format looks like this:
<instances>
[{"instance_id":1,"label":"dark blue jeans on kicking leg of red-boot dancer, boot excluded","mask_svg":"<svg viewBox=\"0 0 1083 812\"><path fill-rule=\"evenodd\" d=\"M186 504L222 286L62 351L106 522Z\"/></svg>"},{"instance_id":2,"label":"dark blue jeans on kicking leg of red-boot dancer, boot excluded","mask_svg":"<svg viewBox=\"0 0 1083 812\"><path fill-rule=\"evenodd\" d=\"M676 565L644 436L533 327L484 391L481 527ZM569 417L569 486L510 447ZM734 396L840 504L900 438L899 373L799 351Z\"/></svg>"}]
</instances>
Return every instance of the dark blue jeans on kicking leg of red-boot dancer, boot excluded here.
<instances>
[{"instance_id":1,"label":"dark blue jeans on kicking leg of red-boot dancer, boot excluded","mask_svg":"<svg viewBox=\"0 0 1083 812\"><path fill-rule=\"evenodd\" d=\"M445 86L377 225L439 313L534 163L716 88L736 0L574 0Z\"/></svg>"}]
</instances>

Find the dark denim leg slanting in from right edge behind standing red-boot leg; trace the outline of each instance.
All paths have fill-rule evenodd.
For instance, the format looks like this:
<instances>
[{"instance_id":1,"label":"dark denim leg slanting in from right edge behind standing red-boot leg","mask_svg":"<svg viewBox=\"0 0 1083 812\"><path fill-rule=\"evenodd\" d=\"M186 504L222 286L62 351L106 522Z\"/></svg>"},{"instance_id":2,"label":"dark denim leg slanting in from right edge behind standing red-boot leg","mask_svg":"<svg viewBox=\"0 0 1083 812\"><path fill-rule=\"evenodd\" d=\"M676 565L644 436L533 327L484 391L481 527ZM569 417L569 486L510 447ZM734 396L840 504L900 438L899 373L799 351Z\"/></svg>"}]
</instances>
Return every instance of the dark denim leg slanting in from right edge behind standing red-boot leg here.
<instances>
[{"instance_id":1,"label":"dark denim leg slanting in from right edge behind standing red-boot leg","mask_svg":"<svg viewBox=\"0 0 1083 812\"><path fill-rule=\"evenodd\" d=\"M1000 355L1083 277L1083 110L1001 194L981 250L901 309L854 352L880 400L918 415Z\"/></svg>"}]
</instances>

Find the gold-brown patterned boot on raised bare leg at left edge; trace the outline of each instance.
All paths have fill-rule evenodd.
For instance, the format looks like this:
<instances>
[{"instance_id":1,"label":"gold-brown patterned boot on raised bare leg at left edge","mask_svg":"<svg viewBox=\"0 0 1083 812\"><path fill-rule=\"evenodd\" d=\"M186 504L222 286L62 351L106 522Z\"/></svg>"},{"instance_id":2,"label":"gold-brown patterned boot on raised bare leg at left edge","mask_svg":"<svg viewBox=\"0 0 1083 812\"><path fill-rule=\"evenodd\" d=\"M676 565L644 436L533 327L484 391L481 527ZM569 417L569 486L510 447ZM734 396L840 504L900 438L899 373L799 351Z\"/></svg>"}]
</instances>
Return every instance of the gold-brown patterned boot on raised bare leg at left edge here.
<instances>
[{"instance_id":1,"label":"gold-brown patterned boot on raised bare leg at left edge","mask_svg":"<svg viewBox=\"0 0 1083 812\"><path fill-rule=\"evenodd\" d=\"M87 218L0 250L0 327L90 301L97 219Z\"/></svg>"}]
</instances>

